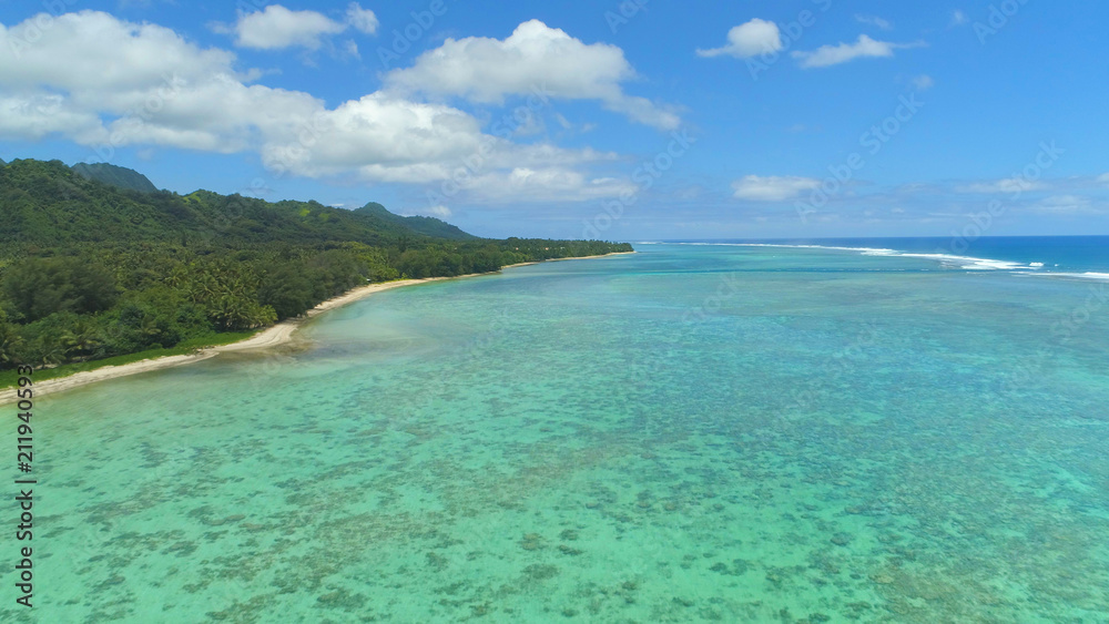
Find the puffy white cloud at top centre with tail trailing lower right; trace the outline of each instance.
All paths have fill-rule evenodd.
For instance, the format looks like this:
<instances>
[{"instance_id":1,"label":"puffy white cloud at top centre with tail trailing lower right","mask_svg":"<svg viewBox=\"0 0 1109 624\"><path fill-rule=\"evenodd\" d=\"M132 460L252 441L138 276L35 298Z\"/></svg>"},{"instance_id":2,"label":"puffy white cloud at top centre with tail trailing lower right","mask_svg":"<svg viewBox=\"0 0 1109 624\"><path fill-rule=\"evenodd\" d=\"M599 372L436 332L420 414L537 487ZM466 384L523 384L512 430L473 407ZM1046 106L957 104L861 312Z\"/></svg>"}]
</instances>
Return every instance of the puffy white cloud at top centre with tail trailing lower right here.
<instances>
[{"instance_id":1,"label":"puffy white cloud at top centre with tail trailing lower right","mask_svg":"<svg viewBox=\"0 0 1109 624\"><path fill-rule=\"evenodd\" d=\"M385 82L388 89L406 95L454 95L481 104L537 93L597 100L638 123L676 129L681 117L673 109L623 92L621 84L635 78L620 48L586 44L531 20L505 40L447 39L441 47L420 54L414 67L389 72Z\"/></svg>"}]
</instances>

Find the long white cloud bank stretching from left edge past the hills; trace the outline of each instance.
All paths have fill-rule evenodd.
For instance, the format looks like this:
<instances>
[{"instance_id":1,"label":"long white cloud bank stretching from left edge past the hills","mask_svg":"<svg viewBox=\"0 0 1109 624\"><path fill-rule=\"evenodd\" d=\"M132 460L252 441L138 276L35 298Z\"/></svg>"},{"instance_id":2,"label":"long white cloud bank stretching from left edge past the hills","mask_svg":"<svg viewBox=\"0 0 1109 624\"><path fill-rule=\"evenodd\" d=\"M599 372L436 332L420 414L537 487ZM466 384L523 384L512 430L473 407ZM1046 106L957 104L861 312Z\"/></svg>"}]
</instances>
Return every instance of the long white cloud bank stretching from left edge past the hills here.
<instances>
[{"instance_id":1,"label":"long white cloud bank stretching from left edge past the hills","mask_svg":"<svg viewBox=\"0 0 1109 624\"><path fill-rule=\"evenodd\" d=\"M309 93L256 84L260 72L237 71L233 53L160 25L67 13L17 60L18 31L0 24L0 140L60 136L101 158L131 145L255 152L274 175L369 183L433 184L461 171L475 194L500 178L568 201L620 191L578 171L614 154L517 144L458 109L394 92L328 108Z\"/></svg>"}]
</instances>

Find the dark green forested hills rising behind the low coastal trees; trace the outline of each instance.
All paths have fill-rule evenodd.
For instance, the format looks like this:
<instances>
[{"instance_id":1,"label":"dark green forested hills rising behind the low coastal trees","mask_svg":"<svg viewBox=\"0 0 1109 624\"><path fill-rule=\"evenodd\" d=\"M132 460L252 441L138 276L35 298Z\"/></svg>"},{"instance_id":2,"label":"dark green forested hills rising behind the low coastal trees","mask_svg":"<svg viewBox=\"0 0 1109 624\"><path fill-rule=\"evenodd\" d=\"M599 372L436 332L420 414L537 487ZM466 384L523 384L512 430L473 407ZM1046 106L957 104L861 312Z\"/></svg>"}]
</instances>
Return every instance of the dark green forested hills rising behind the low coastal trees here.
<instances>
[{"instance_id":1,"label":"dark green forested hills rising behind the low coastal trees","mask_svg":"<svg viewBox=\"0 0 1109 624\"><path fill-rule=\"evenodd\" d=\"M3 216L0 245L106 242L387 245L398 238L478 239L439 219L401 217L379 204L367 208L346 211L317 202L271 203L210 191L177 195L167 191L129 190L90 180L59 161L20 160L0 168Z\"/></svg>"}]
</instances>

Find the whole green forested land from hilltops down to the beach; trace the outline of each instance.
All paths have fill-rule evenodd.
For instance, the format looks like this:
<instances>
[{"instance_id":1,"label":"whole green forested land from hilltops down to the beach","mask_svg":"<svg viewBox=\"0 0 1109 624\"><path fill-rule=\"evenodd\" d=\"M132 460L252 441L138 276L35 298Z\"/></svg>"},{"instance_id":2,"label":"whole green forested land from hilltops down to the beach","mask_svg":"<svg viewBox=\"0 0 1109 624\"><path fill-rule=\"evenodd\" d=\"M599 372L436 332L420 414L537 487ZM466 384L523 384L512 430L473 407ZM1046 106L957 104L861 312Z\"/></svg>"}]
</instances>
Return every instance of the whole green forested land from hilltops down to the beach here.
<instances>
[{"instance_id":1,"label":"whole green forested land from hilltops down to the beach","mask_svg":"<svg viewBox=\"0 0 1109 624\"><path fill-rule=\"evenodd\" d=\"M260 328L368 282L620 250L631 246L482 239L379 204L143 192L14 161L0 167L0 369Z\"/></svg>"}]
</instances>

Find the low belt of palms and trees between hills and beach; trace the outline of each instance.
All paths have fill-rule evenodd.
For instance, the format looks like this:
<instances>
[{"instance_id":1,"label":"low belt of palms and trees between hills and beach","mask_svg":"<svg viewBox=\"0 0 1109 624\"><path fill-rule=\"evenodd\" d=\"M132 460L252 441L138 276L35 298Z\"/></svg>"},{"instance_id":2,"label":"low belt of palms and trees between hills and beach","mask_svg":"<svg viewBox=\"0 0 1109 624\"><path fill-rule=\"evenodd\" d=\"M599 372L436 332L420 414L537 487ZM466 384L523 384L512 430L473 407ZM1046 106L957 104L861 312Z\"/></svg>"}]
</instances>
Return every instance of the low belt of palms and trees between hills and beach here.
<instances>
[{"instance_id":1,"label":"low belt of palms and trees between hills and beach","mask_svg":"<svg viewBox=\"0 0 1109 624\"><path fill-rule=\"evenodd\" d=\"M304 315L354 287L630 250L594 242L77 245L0 260L0 369L150 349Z\"/></svg>"}]
</instances>

